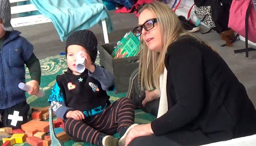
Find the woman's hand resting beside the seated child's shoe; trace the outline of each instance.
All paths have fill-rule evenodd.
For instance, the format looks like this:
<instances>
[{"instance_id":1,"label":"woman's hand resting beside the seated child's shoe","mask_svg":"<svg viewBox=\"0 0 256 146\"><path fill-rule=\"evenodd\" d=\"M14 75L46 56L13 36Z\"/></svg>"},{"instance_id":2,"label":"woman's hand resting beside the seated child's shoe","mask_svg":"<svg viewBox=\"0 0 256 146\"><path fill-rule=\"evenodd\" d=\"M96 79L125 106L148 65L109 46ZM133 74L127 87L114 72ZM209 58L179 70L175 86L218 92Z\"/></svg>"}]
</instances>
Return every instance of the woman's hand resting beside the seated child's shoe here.
<instances>
[{"instance_id":1,"label":"woman's hand resting beside the seated child's shoe","mask_svg":"<svg viewBox=\"0 0 256 146\"><path fill-rule=\"evenodd\" d=\"M127 137L126 137L126 143L125 146L128 146L128 144L136 137L140 136L149 136L154 134L151 124L142 124L138 126L132 127L132 129L129 131Z\"/></svg>"}]
</instances>

